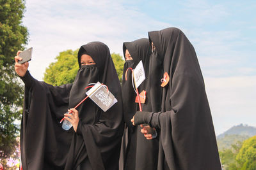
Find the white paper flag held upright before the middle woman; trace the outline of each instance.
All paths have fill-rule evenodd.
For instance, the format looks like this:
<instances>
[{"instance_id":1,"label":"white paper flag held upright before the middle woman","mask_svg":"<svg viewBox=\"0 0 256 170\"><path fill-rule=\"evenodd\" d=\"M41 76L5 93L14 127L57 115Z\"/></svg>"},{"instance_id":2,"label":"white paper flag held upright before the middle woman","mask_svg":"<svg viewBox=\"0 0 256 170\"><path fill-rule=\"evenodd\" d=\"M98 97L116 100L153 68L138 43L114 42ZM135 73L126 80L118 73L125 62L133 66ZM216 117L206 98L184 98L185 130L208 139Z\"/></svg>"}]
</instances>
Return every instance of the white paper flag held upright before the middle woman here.
<instances>
[{"instance_id":1,"label":"white paper flag held upright before the middle woman","mask_svg":"<svg viewBox=\"0 0 256 170\"><path fill-rule=\"evenodd\" d=\"M137 89L140 86L140 84L146 79L142 61L140 61L136 68L133 70L133 76L135 87Z\"/></svg>"}]
</instances>

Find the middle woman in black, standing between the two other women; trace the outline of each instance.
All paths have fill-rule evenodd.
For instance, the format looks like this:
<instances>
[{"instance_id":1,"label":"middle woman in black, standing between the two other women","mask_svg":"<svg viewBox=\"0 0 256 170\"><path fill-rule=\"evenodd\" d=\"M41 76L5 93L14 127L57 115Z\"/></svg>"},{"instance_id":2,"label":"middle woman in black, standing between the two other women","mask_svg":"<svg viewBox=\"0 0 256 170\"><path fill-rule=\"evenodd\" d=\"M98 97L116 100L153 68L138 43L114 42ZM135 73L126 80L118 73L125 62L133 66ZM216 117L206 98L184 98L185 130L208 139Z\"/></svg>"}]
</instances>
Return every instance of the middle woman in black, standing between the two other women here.
<instances>
[{"instance_id":1,"label":"middle woman in black, standing between the two other women","mask_svg":"<svg viewBox=\"0 0 256 170\"><path fill-rule=\"evenodd\" d=\"M136 97L136 87L132 85L132 71L138 67L140 60L143 63L141 69L144 69L146 80L138 87L140 93L141 108L143 111L152 111L150 95L147 92L149 85L147 77L149 70L149 60L151 55L150 44L147 38L141 38L132 42L125 42L123 45L125 56L123 80L122 80L122 98L124 103L125 132L122 141L122 151L120 156L121 169L156 169L158 139L147 140L141 134L140 125L134 127L131 118L140 110L138 106L138 97ZM136 67L136 68L137 68ZM136 75L135 75L136 76ZM137 101L136 101L137 99ZM152 129L154 131L154 129Z\"/></svg>"}]
</instances>

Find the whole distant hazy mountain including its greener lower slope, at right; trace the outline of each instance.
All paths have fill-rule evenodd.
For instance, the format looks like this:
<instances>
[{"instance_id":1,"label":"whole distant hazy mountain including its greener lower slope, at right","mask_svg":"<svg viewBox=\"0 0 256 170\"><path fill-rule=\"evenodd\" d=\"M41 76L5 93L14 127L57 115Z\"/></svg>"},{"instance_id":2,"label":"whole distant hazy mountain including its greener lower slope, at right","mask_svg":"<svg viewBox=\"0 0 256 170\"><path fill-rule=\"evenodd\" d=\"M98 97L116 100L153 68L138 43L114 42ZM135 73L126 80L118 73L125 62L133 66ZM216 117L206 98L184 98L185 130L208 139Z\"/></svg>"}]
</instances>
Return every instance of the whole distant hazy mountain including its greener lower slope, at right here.
<instances>
[{"instance_id":1,"label":"whole distant hazy mountain including its greener lower slope, at right","mask_svg":"<svg viewBox=\"0 0 256 170\"><path fill-rule=\"evenodd\" d=\"M228 129L223 134L217 136L219 150L230 148L233 144L256 135L256 127L248 125L236 125Z\"/></svg>"}]
</instances>

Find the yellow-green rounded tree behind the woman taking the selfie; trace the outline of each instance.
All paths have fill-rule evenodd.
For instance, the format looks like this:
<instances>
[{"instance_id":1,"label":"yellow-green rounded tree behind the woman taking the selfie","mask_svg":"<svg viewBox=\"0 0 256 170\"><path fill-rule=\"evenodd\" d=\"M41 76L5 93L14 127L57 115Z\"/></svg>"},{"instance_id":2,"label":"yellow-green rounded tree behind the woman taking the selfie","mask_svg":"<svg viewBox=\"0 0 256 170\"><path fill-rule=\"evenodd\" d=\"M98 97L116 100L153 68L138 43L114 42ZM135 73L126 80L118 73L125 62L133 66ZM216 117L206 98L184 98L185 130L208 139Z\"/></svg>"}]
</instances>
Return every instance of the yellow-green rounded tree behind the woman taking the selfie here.
<instances>
[{"instance_id":1,"label":"yellow-green rounded tree behind the woman taking the selfie","mask_svg":"<svg viewBox=\"0 0 256 170\"><path fill-rule=\"evenodd\" d=\"M44 81L52 85L73 83L76 78L77 70L79 69L77 52L78 50L75 50L74 52L72 50L60 52L60 55L56 57L57 61L52 62L45 70ZM112 53L111 56L116 67L118 78L121 81L124 60L116 53Z\"/></svg>"}]
</instances>

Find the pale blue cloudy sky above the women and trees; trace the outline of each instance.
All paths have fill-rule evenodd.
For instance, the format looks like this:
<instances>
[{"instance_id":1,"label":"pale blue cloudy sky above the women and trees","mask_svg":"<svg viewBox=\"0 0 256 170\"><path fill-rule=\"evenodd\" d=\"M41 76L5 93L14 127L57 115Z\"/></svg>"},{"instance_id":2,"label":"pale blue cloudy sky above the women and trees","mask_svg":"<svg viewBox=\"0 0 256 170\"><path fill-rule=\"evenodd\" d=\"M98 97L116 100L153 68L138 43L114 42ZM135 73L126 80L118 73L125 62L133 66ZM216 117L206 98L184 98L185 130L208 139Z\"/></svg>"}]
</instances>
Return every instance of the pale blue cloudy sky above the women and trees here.
<instances>
[{"instance_id":1,"label":"pale blue cloudy sky above the women and trees","mask_svg":"<svg viewBox=\"0 0 256 170\"><path fill-rule=\"evenodd\" d=\"M195 47L216 135L238 124L256 127L255 1L26 0L22 24L43 80L60 52L102 41L122 55L124 41L177 27Z\"/></svg>"}]
</instances>

